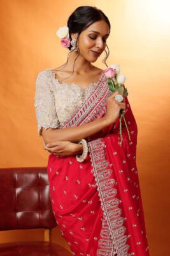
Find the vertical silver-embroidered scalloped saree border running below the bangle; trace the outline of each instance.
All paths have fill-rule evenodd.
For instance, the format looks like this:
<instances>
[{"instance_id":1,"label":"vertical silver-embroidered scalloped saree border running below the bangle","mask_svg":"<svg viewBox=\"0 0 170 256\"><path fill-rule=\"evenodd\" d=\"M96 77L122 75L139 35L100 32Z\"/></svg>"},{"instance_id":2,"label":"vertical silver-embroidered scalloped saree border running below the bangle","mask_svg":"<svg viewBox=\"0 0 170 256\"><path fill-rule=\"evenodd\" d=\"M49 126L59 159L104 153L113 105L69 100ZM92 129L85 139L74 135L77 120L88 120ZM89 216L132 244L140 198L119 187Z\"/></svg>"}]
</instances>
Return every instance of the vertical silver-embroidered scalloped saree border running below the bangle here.
<instances>
[{"instance_id":1,"label":"vertical silver-embroidered scalloped saree border running below the bangle","mask_svg":"<svg viewBox=\"0 0 170 256\"><path fill-rule=\"evenodd\" d=\"M117 185L114 179L110 178L111 170L108 168L108 161L105 158L105 143L101 138L88 142L90 161L92 163L92 173L99 191L101 208L103 209L104 219L102 221L101 239L97 256L127 256L129 245L126 244L128 236L125 235L126 228L123 226L124 220L121 216L122 209L118 207L121 200L116 198ZM110 232L108 232L108 228Z\"/></svg>"}]
</instances>

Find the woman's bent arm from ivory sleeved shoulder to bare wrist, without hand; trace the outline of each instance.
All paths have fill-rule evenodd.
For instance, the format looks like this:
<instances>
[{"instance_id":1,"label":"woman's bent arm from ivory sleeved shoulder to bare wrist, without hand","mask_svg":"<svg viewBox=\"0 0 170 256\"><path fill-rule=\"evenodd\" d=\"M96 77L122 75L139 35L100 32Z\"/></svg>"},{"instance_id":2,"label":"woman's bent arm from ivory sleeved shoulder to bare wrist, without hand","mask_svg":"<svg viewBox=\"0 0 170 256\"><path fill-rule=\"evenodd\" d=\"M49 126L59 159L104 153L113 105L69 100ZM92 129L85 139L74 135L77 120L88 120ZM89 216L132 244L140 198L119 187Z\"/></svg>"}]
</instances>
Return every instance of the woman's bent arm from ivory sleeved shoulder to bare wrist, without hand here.
<instances>
[{"instance_id":1,"label":"woman's bent arm from ivory sleeved shoulder to bare wrist, without hand","mask_svg":"<svg viewBox=\"0 0 170 256\"><path fill-rule=\"evenodd\" d=\"M53 83L49 72L47 70L40 72L36 79L34 106L36 107L39 136L43 136L45 143L53 141L76 143L110 125L110 122L103 117L79 127L59 129L59 119L55 109L53 90Z\"/></svg>"}]
</instances>

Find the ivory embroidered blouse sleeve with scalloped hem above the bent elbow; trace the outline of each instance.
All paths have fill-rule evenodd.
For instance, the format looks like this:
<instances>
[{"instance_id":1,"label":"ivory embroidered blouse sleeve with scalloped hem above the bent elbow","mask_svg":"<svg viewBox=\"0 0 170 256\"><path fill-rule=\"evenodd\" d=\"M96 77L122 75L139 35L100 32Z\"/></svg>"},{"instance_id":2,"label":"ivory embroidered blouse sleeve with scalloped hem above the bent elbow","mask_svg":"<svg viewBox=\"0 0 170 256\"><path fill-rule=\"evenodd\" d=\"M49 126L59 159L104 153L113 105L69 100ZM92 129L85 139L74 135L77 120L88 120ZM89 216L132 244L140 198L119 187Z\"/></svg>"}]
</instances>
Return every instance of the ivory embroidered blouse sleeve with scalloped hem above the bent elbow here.
<instances>
[{"instance_id":1,"label":"ivory embroidered blouse sleeve with scalloped hem above the bent elbow","mask_svg":"<svg viewBox=\"0 0 170 256\"><path fill-rule=\"evenodd\" d=\"M48 71L48 70L47 70ZM52 81L46 70L39 72L36 77L36 92L34 107L38 123L38 134L41 136L42 127L48 129L59 128L59 119L55 109L55 97L52 90Z\"/></svg>"}]
</instances>

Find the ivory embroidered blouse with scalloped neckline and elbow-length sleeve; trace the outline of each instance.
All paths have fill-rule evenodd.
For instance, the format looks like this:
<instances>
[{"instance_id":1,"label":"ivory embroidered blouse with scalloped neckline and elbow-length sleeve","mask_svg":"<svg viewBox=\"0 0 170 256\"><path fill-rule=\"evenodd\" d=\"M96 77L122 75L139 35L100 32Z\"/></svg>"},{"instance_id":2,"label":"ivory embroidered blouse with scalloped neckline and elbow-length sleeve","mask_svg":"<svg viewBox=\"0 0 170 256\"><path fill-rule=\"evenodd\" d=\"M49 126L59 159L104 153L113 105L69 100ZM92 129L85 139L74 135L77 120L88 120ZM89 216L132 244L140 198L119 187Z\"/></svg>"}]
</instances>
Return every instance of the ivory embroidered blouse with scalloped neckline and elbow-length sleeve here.
<instances>
[{"instance_id":1,"label":"ivory embroidered blouse with scalloped neckline and elbow-length sleeve","mask_svg":"<svg viewBox=\"0 0 170 256\"><path fill-rule=\"evenodd\" d=\"M55 71L45 69L36 77L36 92L34 107L38 122L38 134L41 136L42 127L48 129L60 128L80 108L96 83L90 83L82 89L75 83L60 83L55 79Z\"/></svg>"}]
</instances>

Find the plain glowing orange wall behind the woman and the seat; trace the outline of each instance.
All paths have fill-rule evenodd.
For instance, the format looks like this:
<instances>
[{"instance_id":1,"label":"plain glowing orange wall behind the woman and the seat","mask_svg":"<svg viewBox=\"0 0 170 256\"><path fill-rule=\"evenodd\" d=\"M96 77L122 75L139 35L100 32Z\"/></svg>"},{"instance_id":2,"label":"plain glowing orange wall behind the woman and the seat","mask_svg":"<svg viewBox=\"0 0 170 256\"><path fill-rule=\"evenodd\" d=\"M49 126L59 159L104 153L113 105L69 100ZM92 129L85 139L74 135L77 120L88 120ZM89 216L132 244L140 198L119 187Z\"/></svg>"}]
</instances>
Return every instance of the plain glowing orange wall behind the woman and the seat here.
<instances>
[{"instance_id":1,"label":"plain glowing orange wall behind the woman and the seat","mask_svg":"<svg viewBox=\"0 0 170 256\"><path fill-rule=\"evenodd\" d=\"M101 8L111 22L108 65L125 74L138 124L137 164L151 256L169 255L168 175L170 3L167 0L0 0L1 167L46 166L48 152L38 136L35 79L66 61L55 31L80 5ZM101 63L104 53L96 65ZM1 232L0 241L31 239L32 232ZM41 230L34 239L42 239ZM58 228L53 241L64 244ZM68 248L68 247L67 247Z\"/></svg>"}]
</instances>

